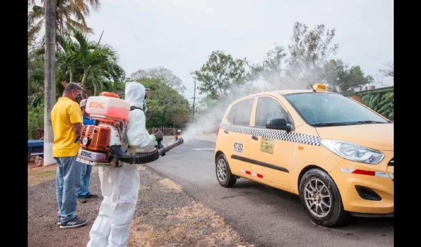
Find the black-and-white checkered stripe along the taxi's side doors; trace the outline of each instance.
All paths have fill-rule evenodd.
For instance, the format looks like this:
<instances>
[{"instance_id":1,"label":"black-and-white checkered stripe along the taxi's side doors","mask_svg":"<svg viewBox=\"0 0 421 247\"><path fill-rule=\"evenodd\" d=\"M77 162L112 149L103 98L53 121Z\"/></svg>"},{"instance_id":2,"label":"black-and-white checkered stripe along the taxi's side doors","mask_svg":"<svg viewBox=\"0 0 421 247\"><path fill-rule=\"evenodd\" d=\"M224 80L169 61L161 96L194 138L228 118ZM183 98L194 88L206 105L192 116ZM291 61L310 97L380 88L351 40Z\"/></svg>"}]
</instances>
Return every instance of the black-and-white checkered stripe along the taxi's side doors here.
<instances>
[{"instance_id":1,"label":"black-and-white checkered stripe along the taxi's side doors","mask_svg":"<svg viewBox=\"0 0 421 247\"><path fill-rule=\"evenodd\" d=\"M297 143L303 143L308 145L320 146L320 137L314 135L306 135L299 133L287 133L284 130L275 130L267 128L257 128L248 126L238 126L231 124L221 124L220 127L227 131L262 136L265 138L278 139L283 141L291 141Z\"/></svg>"}]
</instances>

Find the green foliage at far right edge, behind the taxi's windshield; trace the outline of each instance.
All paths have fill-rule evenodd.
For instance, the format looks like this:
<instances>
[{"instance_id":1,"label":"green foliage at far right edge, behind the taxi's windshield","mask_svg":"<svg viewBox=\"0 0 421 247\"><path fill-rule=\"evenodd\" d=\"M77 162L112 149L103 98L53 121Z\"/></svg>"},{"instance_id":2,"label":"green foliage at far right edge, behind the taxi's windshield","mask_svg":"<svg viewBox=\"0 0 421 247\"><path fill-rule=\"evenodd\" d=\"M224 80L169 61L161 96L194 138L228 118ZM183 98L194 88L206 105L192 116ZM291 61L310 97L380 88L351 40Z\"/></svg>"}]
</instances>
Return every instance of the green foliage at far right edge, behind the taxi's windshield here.
<instances>
[{"instance_id":1,"label":"green foliage at far right edge, behind the taxi's windshield","mask_svg":"<svg viewBox=\"0 0 421 247\"><path fill-rule=\"evenodd\" d=\"M394 121L394 92L369 93L363 97L363 103L383 117Z\"/></svg>"}]
</instances>

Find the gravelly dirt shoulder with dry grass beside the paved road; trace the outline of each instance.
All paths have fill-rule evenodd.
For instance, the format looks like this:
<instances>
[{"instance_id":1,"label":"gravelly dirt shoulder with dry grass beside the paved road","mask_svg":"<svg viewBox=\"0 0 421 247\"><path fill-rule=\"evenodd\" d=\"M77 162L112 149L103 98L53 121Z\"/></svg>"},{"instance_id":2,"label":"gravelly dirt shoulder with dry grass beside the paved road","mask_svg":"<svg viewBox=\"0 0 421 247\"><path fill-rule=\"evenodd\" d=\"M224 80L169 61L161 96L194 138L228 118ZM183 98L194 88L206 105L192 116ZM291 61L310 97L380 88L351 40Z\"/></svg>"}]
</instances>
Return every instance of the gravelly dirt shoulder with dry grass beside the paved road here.
<instances>
[{"instance_id":1,"label":"gravelly dirt shoulder with dry grass beside the paved road","mask_svg":"<svg viewBox=\"0 0 421 247\"><path fill-rule=\"evenodd\" d=\"M97 172L91 192L101 194ZM102 198L79 204L86 226L56 225L55 167L28 169L28 247L82 247L89 241ZM141 187L129 247L252 247L210 208L195 202L173 181L141 167Z\"/></svg>"}]
</instances>

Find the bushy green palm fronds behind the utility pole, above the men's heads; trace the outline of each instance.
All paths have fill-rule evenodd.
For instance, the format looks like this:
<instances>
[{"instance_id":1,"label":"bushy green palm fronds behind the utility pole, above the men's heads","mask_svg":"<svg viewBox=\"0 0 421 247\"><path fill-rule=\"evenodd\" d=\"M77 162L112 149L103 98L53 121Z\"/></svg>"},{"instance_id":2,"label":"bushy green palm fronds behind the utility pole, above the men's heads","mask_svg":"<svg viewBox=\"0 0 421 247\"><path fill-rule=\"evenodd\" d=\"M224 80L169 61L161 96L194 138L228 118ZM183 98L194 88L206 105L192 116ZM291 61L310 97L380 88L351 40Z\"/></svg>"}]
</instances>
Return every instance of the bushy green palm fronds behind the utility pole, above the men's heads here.
<instances>
[{"instance_id":1,"label":"bushy green palm fronds behind the utility pole, above the men's heads","mask_svg":"<svg viewBox=\"0 0 421 247\"><path fill-rule=\"evenodd\" d=\"M109 45L88 41L80 32L74 38L57 35L56 97L63 92L61 82L78 82L90 95L102 91L121 91L118 84L125 78L118 64L118 54ZM36 107L44 98L44 47L42 43L28 48L28 103ZM124 84L122 85L124 94Z\"/></svg>"}]
</instances>

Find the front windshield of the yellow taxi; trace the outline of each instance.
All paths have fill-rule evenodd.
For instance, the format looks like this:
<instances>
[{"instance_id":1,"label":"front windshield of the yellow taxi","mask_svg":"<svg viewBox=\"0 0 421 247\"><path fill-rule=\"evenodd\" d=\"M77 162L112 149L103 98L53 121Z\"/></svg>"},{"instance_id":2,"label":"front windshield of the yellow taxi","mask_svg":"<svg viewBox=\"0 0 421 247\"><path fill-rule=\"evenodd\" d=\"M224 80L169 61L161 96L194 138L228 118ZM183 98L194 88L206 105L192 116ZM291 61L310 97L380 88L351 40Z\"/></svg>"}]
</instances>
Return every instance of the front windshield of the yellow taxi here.
<instances>
[{"instance_id":1,"label":"front windshield of the yellow taxi","mask_svg":"<svg viewBox=\"0 0 421 247\"><path fill-rule=\"evenodd\" d=\"M310 125L389 123L352 99L333 93L296 93L285 98Z\"/></svg>"}]
</instances>

